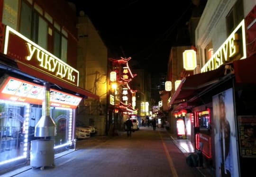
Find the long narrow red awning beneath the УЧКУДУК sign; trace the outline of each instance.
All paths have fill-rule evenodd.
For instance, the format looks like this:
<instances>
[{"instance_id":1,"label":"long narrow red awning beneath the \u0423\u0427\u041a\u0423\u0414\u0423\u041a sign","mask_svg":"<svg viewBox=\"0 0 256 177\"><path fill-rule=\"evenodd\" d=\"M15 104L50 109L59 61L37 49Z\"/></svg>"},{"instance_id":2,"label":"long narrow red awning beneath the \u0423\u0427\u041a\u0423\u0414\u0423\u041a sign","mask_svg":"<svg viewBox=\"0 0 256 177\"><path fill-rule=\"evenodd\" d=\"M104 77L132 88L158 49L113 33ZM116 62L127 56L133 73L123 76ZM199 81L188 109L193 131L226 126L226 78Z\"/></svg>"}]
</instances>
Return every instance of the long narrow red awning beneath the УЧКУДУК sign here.
<instances>
[{"instance_id":1,"label":"long narrow red awning beneath the \u0423\u0427\u041a\u0423\u0414\u0423\u041a sign","mask_svg":"<svg viewBox=\"0 0 256 177\"><path fill-rule=\"evenodd\" d=\"M80 87L76 87L74 85L71 85L69 83L66 83L62 80L59 80L53 76L50 76L46 73L43 73L43 72L40 72L40 71L37 71L36 69L32 68L32 67L29 67L28 65L26 64L23 64L21 62L17 62L17 65L18 65L18 69L22 72L25 72L29 75L32 75L34 77L37 77L38 79L41 79L41 80L45 80L47 82L50 82L52 84L56 84L57 86L61 87L61 88L65 88L65 89L68 89L68 90L71 90L81 96L85 96L85 97L91 97L91 98L96 98L96 99L100 99L100 97L98 95L95 95L93 93L91 93L90 91L87 91L83 88L80 88Z\"/></svg>"}]
</instances>

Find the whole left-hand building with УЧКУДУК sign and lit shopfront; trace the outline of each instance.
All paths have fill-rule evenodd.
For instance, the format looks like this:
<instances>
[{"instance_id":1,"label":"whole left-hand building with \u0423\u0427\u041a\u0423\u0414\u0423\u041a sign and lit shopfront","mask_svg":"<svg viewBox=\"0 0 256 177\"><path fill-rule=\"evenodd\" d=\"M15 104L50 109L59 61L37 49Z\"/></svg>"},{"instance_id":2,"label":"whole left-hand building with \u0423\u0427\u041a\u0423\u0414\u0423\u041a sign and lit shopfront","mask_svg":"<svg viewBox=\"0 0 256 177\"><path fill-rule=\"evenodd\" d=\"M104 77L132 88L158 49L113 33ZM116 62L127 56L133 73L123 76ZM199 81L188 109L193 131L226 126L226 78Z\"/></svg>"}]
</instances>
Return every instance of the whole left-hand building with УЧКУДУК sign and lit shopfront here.
<instances>
[{"instance_id":1,"label":"whole left-hand building with \u0423\u0427\u041a\u0423\u0414\u0423\u041a sign and lit shopfront","mask_svg":"<svg viewBox=\"0 0 256 177\"><path fill-rule=\"evenodd\" d=\"M0 19L0 170L53 166L73 148L80 102L99 100L78 87L75 11L64 0L0 0Z\"/></svg>"}]
</instances>

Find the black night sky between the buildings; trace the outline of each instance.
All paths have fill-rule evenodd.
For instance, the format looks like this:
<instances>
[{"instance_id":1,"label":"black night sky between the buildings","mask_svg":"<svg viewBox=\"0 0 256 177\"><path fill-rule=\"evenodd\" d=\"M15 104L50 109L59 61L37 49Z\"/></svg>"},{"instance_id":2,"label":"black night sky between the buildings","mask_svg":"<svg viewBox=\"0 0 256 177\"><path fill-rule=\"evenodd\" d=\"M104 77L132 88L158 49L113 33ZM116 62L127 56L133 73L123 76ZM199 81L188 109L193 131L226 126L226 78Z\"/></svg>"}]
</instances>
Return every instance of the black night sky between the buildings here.
<instances>
[{"instance_id":1,"label":"black night sky between the buildings","mask_svg":"<svg viewBox=\"0 0 256 177\"><path fill-rule=\"evenodd\" d=\"M185 27L191 0L68 0L89 16L115 57L131 57L135 68L165 73L176 33Z\"/></svg>"}]
</instances>

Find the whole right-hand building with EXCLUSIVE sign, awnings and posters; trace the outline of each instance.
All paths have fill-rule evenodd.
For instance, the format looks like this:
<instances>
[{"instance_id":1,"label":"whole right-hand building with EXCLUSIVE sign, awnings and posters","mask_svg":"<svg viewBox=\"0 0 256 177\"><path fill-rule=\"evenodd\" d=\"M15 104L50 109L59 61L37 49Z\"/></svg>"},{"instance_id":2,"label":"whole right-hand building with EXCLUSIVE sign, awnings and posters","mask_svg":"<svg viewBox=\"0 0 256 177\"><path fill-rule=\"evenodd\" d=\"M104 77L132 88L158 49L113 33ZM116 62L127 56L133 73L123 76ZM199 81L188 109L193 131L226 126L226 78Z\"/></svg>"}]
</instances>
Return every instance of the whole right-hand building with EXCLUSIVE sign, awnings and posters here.
<instances>
[{"instance_id":1,"label":"whole right-hand building with EXCLUSIVE sign, awnings and posters","mask_svg":"<svg viewBox=\"0 0 256 177\"><path fill-rule=\"evenodd\" d=\"M186 110L195 148L216 177L255 173L255 133L247 135L256 130L255 11L253 1L207 1L195 30L198 66L170 100L174 112Z\"/></svg>"}]
</instances>

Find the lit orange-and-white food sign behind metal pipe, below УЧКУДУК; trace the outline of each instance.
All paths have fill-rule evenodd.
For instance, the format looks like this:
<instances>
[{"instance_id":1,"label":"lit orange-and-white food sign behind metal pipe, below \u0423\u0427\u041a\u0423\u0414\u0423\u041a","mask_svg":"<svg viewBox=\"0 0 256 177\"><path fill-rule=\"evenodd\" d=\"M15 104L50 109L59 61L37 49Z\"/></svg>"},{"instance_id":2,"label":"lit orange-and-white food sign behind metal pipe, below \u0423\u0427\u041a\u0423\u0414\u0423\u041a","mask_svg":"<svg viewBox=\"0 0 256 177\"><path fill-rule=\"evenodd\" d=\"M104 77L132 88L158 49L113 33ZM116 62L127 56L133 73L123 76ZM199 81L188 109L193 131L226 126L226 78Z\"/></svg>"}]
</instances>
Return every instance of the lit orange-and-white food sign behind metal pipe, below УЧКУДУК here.
<instances>
[{"instance_id":1,"label":"lit orange-and-white food sign behind metal pipe, below \u0423\u0427\u041a\u0423\u0414\u0423\u041a","mask_svg":"<svg viewBox=\"0 0 256 177\"><path fill-rule=\"evenodd\" d=\"M25 80L7 77L0 88L0 99L42 105L44 86ZM75 109L82 97L77 97L55 89L50 89L50 106Z\"/></svg>"}]
</instances>

